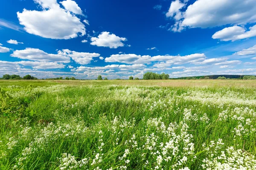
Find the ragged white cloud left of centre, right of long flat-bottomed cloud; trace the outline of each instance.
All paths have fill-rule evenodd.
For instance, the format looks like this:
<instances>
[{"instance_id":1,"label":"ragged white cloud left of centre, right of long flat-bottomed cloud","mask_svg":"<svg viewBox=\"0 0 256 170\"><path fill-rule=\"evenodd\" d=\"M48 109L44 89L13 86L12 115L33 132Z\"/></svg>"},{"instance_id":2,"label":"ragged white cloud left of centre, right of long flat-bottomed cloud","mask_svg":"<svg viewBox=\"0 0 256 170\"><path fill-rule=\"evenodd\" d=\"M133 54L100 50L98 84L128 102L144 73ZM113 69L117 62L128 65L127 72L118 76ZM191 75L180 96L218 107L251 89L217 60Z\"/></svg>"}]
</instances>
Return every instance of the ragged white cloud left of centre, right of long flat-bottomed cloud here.
<instances>
[{"instance_id":1,"label":"ragged white cloud left of centre, right of long flat-bottomed cloud","mask_svg":"<svg viewBox=\"0 0 256 170\"><path fill-rule=\"evenodd\" d=\"M86 53L86 52L76 52L69 49L59 50L58 54L61 56L71 57L76 63L79 64L89 64L93 61L93 57L99 57L98 53Z\"/></svg>"}]
</instances>

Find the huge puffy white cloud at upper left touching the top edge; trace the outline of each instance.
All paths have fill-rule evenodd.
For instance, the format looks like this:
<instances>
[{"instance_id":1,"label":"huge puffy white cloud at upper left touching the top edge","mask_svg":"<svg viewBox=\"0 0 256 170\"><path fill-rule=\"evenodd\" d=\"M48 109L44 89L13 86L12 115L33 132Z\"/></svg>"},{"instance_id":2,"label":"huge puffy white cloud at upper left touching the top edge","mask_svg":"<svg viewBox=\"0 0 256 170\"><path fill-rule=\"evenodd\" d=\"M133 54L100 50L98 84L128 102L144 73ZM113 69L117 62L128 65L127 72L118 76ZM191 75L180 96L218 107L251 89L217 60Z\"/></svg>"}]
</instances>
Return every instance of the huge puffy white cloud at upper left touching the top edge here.
<instances>
[{"instance_id":1,"label":"huge puffy white cloud at upper left touching the top edge","mask_svg":"<svg viewBox=\"0 0 256 170\"><path fill-rule=\"evenodd\" d=\"M75 1L62 1L64 8L61 8L57 0L34 2L41 6L41 11L23 9L17 12L19 22L26 32L51 39L70 39L86 34L84 24L76 16L83 14Z\"/></svg>"}]
</instances>

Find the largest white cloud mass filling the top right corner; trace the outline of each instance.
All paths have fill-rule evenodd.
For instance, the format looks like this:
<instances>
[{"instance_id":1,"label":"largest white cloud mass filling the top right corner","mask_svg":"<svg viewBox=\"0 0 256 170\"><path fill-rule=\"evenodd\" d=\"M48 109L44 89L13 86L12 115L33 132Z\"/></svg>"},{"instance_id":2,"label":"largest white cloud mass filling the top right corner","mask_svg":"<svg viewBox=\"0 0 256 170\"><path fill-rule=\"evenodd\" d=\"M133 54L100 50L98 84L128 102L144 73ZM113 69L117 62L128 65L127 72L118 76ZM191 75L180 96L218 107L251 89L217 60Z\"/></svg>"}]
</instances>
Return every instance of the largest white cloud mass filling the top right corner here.
<instances>
[{"instance_id":1,"label":"largest white cloud mass filling the top right corner","mask_svg":"<svg viewBox=\"0 0 256 170\"><path fill-rule=\"evenodd\" d=\"M186 2L182 0L172 1L166 13L166 17L175 20L172 31L256 22L255 0L196 0L186 9L185 6Z\"/></svg>"}]
</instances>

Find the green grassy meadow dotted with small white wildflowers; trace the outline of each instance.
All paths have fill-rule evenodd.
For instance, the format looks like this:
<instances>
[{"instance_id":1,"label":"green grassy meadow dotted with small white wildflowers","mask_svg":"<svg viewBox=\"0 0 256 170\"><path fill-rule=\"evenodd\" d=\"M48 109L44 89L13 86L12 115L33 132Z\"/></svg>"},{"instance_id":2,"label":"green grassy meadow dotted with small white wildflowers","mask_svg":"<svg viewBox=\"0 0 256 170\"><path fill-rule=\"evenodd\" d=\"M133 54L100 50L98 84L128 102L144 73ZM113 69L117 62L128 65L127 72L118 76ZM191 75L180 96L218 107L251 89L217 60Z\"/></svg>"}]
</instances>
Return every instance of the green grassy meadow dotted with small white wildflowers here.
<instances>
[{"instance_id":1,"label":"green grassy meadow dotted with small white wildflowers","mask_svg":"<svg viewBox=\"0 0 256 170\"><path fill-rule=\"evenodd\" d=\"M255 170L256 81L0 81L0 169Z\"/></svg>"}]
</instances>

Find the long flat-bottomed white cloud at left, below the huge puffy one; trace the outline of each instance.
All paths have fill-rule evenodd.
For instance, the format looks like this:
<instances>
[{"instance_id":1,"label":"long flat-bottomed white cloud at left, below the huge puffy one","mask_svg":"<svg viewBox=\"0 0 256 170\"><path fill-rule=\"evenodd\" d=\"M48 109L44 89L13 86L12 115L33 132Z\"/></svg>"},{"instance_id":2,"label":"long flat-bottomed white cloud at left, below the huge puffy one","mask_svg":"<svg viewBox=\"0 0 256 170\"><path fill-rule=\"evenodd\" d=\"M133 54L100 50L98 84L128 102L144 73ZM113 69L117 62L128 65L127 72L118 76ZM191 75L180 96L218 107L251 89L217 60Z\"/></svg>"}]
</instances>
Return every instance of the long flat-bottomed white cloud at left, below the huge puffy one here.
<instances>
[{"instance_id":1,"label":"long flat-bottomed white cloud at left, below the huge puffy one","mask_svg":"<svg viewBox=\"0 0 256 170\"><path fill-rule=\"evenodd\" d=\"M12 57L17 57L20 59L29 59L34 61L43 61L43 62L70 62L70 58L67 56L59 54L48 54L37 48L26 48L25 50L15 50Z\"/></svg>"}]
</instances>

